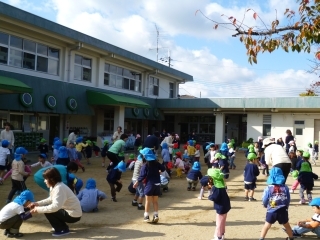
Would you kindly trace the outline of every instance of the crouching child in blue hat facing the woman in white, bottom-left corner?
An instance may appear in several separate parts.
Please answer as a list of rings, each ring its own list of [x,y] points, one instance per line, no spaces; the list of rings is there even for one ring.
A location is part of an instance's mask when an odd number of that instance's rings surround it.
[[[30,190],[23,191],[11,203],[4,206],[0,211],[0,229],[5,229],[4,235],[8,238],[20,238],[19,232],[23,221],[32,217],[26,209],[34,202],[33,193]]]

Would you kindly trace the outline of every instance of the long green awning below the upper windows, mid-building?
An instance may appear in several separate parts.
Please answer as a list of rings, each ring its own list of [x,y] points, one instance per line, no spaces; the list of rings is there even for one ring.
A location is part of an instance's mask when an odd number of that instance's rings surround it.
[[[122,105],[126,107],[150,108],[150,105],[132,97],[87,90],[87,101],[91,105]]]

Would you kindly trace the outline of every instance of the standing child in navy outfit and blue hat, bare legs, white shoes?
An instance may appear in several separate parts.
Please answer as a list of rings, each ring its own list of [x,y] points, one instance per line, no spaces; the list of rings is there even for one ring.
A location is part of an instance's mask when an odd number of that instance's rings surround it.
[[[146,181],[146,186],[144,188],[144,194],[146,195],[146,205],[144,210],[144,218],[143,221],[150,222],[149,218],[149,209],[150,203],[153,203],[153,218],[152,222],[157,223],[159,221],[159,204],[158,197],[161,194],[160,191],[160,174],[159,172],[165,171],[165,168],[162,164],[160,164],[156,160],[156,156],[154,155],[151,149],[143,149],[143,157],[147,161],[145,165],[142,166],[140,171],[140,176],[138,181],[133,185],[137,187],[139,183],[142,181]]]

